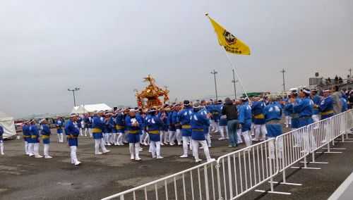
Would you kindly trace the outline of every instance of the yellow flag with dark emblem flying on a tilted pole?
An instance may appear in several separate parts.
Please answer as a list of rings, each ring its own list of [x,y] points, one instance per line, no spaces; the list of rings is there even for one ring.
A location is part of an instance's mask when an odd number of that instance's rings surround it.
[[[206,16],[208,16],[208,13],[206,13]],[[248,45],[232,35],[232,33],[225,30],[225,28],[213,20],[213,18],[210,18],[210,16],[208,16],[208,18],[210,19],[213,28],[215,28],[218,43],[225,48],[225,51],[232,54],[250,55],[250,48]]]

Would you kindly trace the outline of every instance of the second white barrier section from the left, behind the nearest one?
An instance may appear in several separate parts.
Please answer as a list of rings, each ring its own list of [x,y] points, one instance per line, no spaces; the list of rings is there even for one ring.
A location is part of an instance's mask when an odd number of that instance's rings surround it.
[[[277,174],[275,138],[217,159],[218,199],[235,199]],[[273,188],[272,188],[273,189]]]

